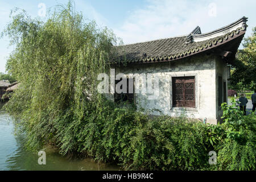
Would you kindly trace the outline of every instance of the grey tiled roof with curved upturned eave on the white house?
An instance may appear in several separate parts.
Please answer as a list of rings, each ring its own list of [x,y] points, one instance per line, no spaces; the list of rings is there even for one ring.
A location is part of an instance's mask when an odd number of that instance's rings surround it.
[[[117,60],[127,63],[153,63],[181,59],[220,46],[245,34],[246,21],[247,18],[243,17],[229,26],[207,34],[201,34],[200,27],[196,27],[188,36],[118,46],[114,63],[118,63]]]

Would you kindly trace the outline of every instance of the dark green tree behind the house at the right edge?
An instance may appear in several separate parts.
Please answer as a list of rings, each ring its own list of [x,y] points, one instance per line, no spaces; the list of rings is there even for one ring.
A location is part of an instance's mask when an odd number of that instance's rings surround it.
[[[256,27],[253,28],[253,35],[243,41],[244,48],[237,52],[230,84],[233,88],[242,85],[253,90],[256,87]]]

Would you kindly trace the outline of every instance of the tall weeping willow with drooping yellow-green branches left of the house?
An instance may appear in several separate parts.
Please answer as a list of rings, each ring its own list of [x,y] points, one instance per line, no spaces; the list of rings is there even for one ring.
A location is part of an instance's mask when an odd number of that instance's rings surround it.
[[[15,50],[6,68],[20,86],[6,110],[27,134],[29,147],[51,142],[70,152],[79,138],[71,133],[79,134],[86,114],[101,107],[97,76],[109,69],[117,39],[108,28],[83,19],[70,2],[44,22],[24,10],[10,16],[3,35]]]

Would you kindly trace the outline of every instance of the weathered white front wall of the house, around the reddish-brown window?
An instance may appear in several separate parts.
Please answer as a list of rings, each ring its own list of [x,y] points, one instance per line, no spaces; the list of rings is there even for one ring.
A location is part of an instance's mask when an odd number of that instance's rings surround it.
[[[118,73],[138,74],[152,73],[159,77],[159,97],[148,100],[150,94],[135,94],[136,104],[153,115],[167,114],[173,117],[184,114],[189,118],[208,118],[207,121],[216,123],[216,64],[214,55],[195,55],[185,59],[166,63],[136,64],[128,67],[116,67]],[[195,76],[196,108],[172,107],[172,77]],[[135,85],[138,88],[143,83]],[[154,85],[154,84],[153,84]]]

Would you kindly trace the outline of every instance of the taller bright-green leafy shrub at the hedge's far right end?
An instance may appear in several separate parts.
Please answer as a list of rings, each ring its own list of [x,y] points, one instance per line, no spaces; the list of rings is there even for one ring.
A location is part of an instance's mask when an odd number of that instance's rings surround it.
[[[225,129],[224,142],[219,143],[218,170],[255,170],[256,115],[243,116],[238,103],[232,99],[232,106],[222,104]]]

